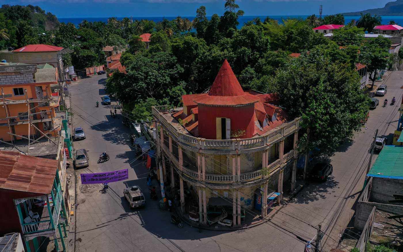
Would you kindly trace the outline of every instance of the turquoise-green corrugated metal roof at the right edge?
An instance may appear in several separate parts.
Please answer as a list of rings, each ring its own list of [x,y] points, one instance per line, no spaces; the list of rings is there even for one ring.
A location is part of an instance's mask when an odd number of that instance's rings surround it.
[[[403,146],[383,146],[367,176],[403,179]]]

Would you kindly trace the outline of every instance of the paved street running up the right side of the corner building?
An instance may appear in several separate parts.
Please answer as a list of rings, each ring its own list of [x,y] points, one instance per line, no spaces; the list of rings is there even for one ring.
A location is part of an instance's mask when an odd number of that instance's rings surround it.
[[[388,86],[385,97],[376,97],[379,106],[370,110],[370,117],[361,132],[354,135],[352,141],[347,141],[340,146],[332,156],[333,174],[326,183],[312,183],[305,187],[289,205],[285,206],[274,220],[283,225],[292,227],[301,235],[316,233],[316,230],[308,224],[316,226],[322,223],[322,230],[326,235],[322,241],[324,251],[335,248],[343,227],[347,227],[354,214],[355,205],[360,191],[364,185],[364,177],[369,162],[369,149],[373,141],[374,132],[379,129],[378,135],[388,137],[388,144],[392,143],[392,136],[397,128],[400,101],[403,94],[403,71],[395,71],[384,81]],[[390,106],[390,102],[396,97],[396,104]],[[382,107],[383,100],[387,98],[389,104]],[[378,155],[375,154],[372,162]],[[303,223],[293,217],[305,221]],[[349,224],[352,227],[353,223]],[[337,241],[337,242],[336,242]],[[341,247],[343,248],[343,247]]]

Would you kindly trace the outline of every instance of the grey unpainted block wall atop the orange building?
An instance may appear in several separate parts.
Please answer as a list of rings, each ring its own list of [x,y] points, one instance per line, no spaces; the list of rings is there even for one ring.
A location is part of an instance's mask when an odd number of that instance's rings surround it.
[[[36,64],[0,66],[0,85],[33,83]]]

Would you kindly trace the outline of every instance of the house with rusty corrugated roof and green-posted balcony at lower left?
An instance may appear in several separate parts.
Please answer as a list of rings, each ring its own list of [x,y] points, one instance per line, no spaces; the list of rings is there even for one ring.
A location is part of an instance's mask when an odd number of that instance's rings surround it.
[[[38,251],[42,239],[63,236],[60,215],[66,216],[58,160],[0,151],[0,235],[19,232],[25,249]],[[61,213],[62,212],[62,213]],[[64,224],[63,224],[64,225]],[[61,239],[63,250],[64,241]],[[58,248],[58,241],[55,240]]]

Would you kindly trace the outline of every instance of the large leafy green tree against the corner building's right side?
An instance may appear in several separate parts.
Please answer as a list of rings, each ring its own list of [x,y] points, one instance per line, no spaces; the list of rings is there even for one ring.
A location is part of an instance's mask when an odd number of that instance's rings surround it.
[[[302,117],[310,129],[300,137],[301,150],[320,149],[331,154],[345,138],[361,128],[368,111],[368,96],[359,75],[344,64],[333,63],[318,50],[293,59],[276,75],[282,104],[292,117]]]

